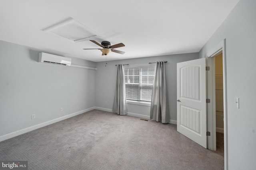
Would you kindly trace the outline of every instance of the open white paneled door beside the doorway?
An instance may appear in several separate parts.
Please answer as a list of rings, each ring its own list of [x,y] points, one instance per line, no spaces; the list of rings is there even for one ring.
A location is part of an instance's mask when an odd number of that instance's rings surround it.
[[[177,63],[177,131],[207,148],[206,59]]]

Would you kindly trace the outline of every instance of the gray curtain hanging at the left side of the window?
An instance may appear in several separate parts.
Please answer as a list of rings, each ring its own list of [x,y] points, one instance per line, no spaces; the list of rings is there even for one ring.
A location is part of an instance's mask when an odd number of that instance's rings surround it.
[[[118,115],[126,115],[126,94],[125,94],[125,79],[124,79],[124,66],[118,64],[116,77],[116,91],[114,97],[114,104],[112,111]]]

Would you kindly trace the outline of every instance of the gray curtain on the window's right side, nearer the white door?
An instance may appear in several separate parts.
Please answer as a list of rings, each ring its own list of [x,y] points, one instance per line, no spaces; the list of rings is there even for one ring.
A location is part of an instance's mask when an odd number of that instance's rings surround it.
[[[170,121],[164,61],[156,62],[150,119],[162,123],[169,123]]]

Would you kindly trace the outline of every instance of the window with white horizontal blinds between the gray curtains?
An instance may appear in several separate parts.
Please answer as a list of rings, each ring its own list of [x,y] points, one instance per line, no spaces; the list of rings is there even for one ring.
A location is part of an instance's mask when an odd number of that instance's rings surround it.
[[[155,65],[124,68],[126,100],[151,102]]]

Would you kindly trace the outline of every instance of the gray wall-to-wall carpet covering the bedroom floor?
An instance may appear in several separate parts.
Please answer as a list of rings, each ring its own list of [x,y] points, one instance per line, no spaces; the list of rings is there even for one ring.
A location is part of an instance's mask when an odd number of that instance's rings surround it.
[[[176,131],[176,125],[100,110],[0,142],[0,160],[30,170],[222,170],[224,157]]]

